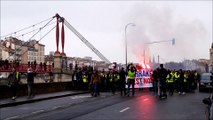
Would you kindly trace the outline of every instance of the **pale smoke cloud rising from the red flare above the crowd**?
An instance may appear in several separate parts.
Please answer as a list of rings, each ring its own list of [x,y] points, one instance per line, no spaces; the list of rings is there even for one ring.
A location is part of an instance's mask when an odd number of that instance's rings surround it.
[[[144,48],[146,61],[153,55],[157,58],[157,54],[165,61],[180,61],[202,55],[200,48],[203,42],[207,41],[207,34],[204,25],[198,19],[190,20],[176,14],[172,8],[148,4],[136,5],[124,19],[134,20],[136,24],[134,30],[133,28],[129,30],[128,27],[128,48],[131,48],[140,62],[144,57]],[[174,46],[172,42],[144,46],[145,43],[172,40],[172,38],[176,39]]]

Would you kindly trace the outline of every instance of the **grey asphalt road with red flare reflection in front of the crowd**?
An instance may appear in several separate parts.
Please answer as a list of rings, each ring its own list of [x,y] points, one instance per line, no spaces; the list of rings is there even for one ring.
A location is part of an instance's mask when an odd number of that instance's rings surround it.
[[[159,99],[152,92],[137,91],[127,97],[102,93],[45,100],[1,109],[1,119],[28,120],[204,120],[204,97],[188,93]]]

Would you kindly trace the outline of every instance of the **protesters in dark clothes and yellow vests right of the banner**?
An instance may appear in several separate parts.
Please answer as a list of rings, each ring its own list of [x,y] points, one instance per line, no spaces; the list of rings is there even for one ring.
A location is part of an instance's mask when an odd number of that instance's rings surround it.
[[[167,92],[169,95],[174,92],[193,92],[197,88],[200,75],[197,71],[166,70],[161,64],[160,68],[153,71],[152,78],[155,94],[167,98]]]

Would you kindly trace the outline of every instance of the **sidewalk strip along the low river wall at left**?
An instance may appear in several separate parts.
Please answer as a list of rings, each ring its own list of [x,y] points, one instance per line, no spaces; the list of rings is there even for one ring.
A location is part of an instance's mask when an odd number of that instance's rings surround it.
[[[55,92],[55,93],[38,94],[38,95],[35,95],[33,98],[28,98],[27,96],[17,97],[15,100],[12,100],[11,98],[7,98],[7,99],[0,100],[0,108],[11,107],[11,106],[21,105],[26,103],[33,103],[33,102],[48,100],[53,98],[83,94],[83,93],[88,93],[88,92],[87,91],[62,91],[62,92]]]

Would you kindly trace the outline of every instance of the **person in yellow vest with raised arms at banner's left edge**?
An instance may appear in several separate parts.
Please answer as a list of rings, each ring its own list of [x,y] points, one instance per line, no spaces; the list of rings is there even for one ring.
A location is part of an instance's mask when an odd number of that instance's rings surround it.
[[[135,95],[135,75],[136,75],[136,69],[134,66],[130,68],[130,71],[128,71],[128,88],[127,88],[127,96],[130,95],[130,86],[132,86],[132,96]]]

